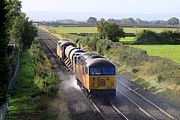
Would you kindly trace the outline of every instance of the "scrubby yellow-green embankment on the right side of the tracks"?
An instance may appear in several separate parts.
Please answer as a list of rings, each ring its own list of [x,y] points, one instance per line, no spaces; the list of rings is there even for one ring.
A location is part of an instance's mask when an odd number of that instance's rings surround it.
[[[50,28],[49,31],[52,32],[52,28]],[[71,34],[62,34],[55,30],[53,33],[54,35],[60,35],[60,38],[81,42],[82,49],[97,51],[115,63],[118,66],[119,72],[134,79],[135,82],[144,87],[144,89],[159,94],[162,98],[180,107],[180,64],[170,59],[149,56],[144,50],[123,46],[120,43],[113,43],[109,40],[80,38],[79,36],[73,36]],[[168,49],[172,49],[173,47],[170,45],[167,46]],[[152,46],[150,46],[149,49],[151,47]],[[177,54],[179,46],[174,48],[176,49],[174,56],[175,59],[178,60]],[[154,52],[155,55],[160,53],[160,51],[157,51]],[[161,52],[162,51],[163,50],[161,50]],[[168,54],[170,55],[172,53],[169,52]]]

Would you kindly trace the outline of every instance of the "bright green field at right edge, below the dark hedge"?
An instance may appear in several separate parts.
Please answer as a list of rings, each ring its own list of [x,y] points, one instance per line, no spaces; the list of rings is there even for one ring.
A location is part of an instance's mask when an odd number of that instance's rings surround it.
[[[148,55],[170,58],[180,63],[180,45],[131,45],[146,50]]]

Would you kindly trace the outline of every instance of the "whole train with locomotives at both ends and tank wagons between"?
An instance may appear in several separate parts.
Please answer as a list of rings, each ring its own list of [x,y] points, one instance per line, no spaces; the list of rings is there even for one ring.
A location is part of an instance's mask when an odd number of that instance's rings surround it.
[[[116,70],[110,61],[70,41],[58,41],[56,52],[89,95],[115,96]]]

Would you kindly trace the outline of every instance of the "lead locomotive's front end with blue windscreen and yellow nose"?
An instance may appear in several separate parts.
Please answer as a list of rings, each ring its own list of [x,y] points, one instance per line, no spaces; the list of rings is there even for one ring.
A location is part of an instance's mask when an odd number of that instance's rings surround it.
[[[90,93],[115,96],[115,65],[104,58],[97,58],[87,64],[89,66]]]

